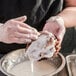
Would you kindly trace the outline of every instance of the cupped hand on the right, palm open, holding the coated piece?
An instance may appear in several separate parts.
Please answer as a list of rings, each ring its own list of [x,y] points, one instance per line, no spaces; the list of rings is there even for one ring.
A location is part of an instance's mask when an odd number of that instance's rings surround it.
[[[43,31],[45,30],[53,33],[56,36],[56,51],[58,52],[61,48],[61,43],[65,34],[65,26],[63,19],[61,17],[56,16],[50,18],[44,25]]]

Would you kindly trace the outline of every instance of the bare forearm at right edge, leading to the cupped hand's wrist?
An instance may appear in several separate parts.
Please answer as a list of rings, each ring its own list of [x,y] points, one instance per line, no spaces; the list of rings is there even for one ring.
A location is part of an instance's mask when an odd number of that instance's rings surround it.
[[[65,27],[76,26],[76,7],[67,7],[58,15],[63,18]]]

